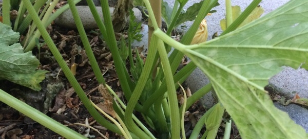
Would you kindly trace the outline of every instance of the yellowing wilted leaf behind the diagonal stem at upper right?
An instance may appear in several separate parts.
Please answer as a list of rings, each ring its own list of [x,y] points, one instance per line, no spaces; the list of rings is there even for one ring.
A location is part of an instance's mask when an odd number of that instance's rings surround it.
[[[232,6],[232,17],[233,21],[238,18],[241,14],[241,7],[239,6]],[[248,15],[248,17],[242,22],[242,24],[238,27],[242,27],[249,22],[252,22],[253,20],[258,19],[261,14],[264,13],[264,9],[261,6],[256,7],[251,14]],[[224,31],[226,29],[226,19],[220,20],[220,27]]]

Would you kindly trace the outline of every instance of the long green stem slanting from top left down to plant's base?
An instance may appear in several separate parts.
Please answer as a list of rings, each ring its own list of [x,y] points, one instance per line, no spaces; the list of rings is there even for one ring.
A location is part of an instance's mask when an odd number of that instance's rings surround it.
[[[26,8],[28,9],[30,16],[32,17],[32,19],[34,21],[34,24],[36,24],[37,29],[40,30],[43,38],[45,39],[46,43],[48,44],[48,47],[49,47],[51,53],[55,57],[57,63],[62,68],[65,76],[67,77],[67,79],[71,83],[71,85],[73,86],[74,90],[78,94],[79,98],[81,99],[81,101],[83,102],[84,106],[87,108],[89,113],[93,116],[93,118],[95,120],[97,120],[98,123],[100,123],[101,125],[103,125],[107,129],[109,129],[109,130],[111,130],[115,133],[122,134],[117,126],[115,126],[114,124],[111,124],[109,121],[104,119],[100,115],[100,113],[91,105],[91,102],[89,101],[89,99],[85,95],[85,92],[83,91],[83,89],[79,85],[78,81],[75,79],[75,77],[71,73],[69,67],[66,65],[66,62],[64,61],[63,57],[61,56],[59,50],[57,50],[57,48],[56,48],[55,44],[53,43],[52,39],[50,38],[48,32],[46,31],[46,29],[42,25],[42,22],[41,22],[40,18],[38,18],[34,8],[31,5],[31,3],[28,0],[23,0],[23,2],[25,4]]]

